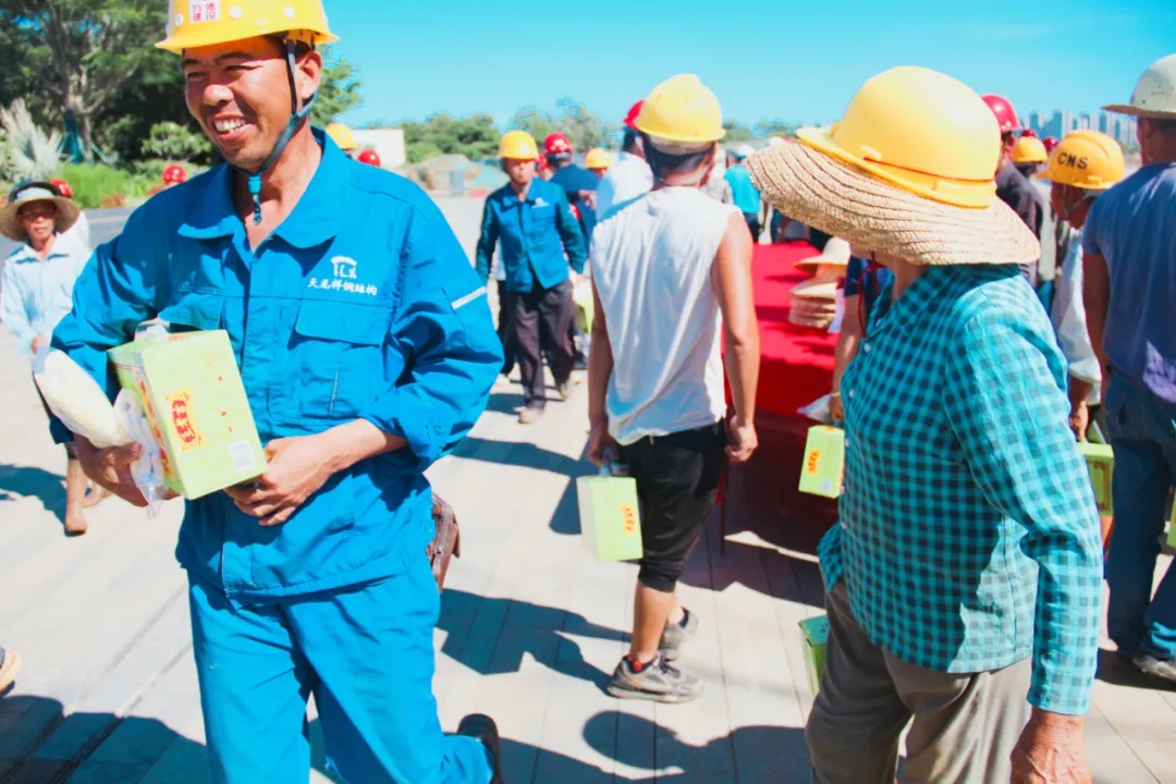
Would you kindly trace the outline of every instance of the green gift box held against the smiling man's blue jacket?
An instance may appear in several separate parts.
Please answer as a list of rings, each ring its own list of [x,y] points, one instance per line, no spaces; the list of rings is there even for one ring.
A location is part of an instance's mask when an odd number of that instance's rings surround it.
[[[199,498],[253,480],[266,456],[228,333],[139,340],[108,351],[119,384],[147,415],[167,487]]]

